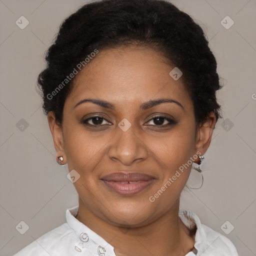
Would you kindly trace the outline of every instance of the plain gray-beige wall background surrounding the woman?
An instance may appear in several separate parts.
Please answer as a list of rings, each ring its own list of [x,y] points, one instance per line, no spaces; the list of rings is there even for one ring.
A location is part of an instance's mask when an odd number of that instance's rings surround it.
[[[85,2],[0,0],[2,256],[14,254],[61,225],[65,209],[78,203],[73,184],[66,177],[67,167],[55,161],[36,77],[44,67],[43,54],[60,22]],[[202,164],[203,186],[186,188],[180,207],[194,211],[202,223],[231,239],[239,255],[256,255],[256,1],[172,2],[202,25],[224,85],[218,93],[223,119],[216,124]],[[24,29],[15,24],[21,15],[29,21]],[[234,21],[229,29],[220,23],[226,15]],[[230,20],[224,22],[230,24]],[[188,185],[198,187],[200,181],[200,174],[192,170]],[[15,228],[21,220],[29,226],[24,234]],[[223,230],[234,226],[229,234],[221,229],[226,220],[230,223],[224,224]]]

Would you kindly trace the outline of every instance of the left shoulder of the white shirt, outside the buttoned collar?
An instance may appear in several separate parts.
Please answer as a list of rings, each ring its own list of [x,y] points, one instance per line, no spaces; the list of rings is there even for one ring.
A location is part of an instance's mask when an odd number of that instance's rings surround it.
[[[54,255],[65,255],[75,240],[74,230],[65,222],[32,241],[13,256],[49,256],[52,252]]]

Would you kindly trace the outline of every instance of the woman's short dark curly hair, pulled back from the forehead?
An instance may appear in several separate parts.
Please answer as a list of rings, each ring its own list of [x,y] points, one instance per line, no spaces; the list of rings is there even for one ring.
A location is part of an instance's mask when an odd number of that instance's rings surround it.
[[[167,0],[100,0],[68,16],[48,48],[46,68],[37,78],[44,113],[53,111],[61,124],[73,81],[69,77],[67,81],[67,75],[95,49],[125,45],[152,47],[182,71],[197,124],[202,124],[210,112],[218,119],[216,90],[221,85],[216,59],[202,28]],[[63,80],[65,86],[53,97],[52,91]]]

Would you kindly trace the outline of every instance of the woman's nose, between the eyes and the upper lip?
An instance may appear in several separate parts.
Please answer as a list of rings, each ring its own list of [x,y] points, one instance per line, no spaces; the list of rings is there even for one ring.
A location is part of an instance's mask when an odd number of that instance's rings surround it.
[[[119,161],[123,165],[130,165],[135,161],[142,161],[148,156],[145,142],[135,125],[131,125],[126,131],[116,127],[115,136],[109,141],[108,157]]]

